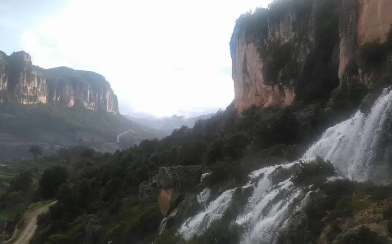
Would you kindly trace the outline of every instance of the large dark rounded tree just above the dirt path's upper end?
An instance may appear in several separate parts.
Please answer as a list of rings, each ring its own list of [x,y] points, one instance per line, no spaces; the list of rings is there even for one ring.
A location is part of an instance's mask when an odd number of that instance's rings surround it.
[[[50,199],[54,197],[57,189],[67,181],[68,171],[62,166],[53,166],[45,169],[39,182],[39,192],[41,197]]]

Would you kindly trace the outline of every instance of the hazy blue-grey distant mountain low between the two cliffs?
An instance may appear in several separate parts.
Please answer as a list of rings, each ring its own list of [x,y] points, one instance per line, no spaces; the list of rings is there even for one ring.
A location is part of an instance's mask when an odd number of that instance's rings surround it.
[[[156,130],[160,130],[165,135],[170,135],[173,132],[173,130],[176,128],[180,128],[181,126],[187,126],[189,128],[192,128],[194,126],[194,123],[198,119],[207,119],[210,118],[212,115],[214,115],[214,113],[200,115],[197,117],[189,117],[189,118],[185,116],[177,116],[177,115],[173,115],[171,117],[163,117],[163,118],[157,118],[152,116],[145,117],[145,118],[137,118],[129,115],[125,115],[125,116],[135,121],[138,124]]]

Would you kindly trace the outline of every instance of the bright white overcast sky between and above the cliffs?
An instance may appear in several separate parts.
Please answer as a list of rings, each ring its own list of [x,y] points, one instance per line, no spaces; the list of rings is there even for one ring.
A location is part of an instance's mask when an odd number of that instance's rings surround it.
[[[0,50],[106,77],[120,112],[194,116],[234,99],[229,42],[270,0],[0,0]]]

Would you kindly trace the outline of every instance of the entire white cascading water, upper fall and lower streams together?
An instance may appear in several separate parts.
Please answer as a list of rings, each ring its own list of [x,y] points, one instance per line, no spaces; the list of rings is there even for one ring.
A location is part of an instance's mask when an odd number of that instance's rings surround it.
[[[312,160],[319,156],[329,160],[335,169],[350,179],[382,181],[388,172],[384,161],[391,158],[391,128],[392,91],[384,89],[369,114],[358,111],[352,118],[327,129],[302,158]],[[290,214],[306,204],[309,189],[295,187],[291,178],[275,185],[272,182],[276,170],[288,169],[295,164],[299,162],[265,167],[249,175],[251,181],[243,188],[254,187],[254,192],[235,221],[247,226],[241,243],[274,243],[277,230],[287,225]],[[255,182],[255,179],[258,180]],[[234,191],[223,192],[204,211],[187,219],[178,234],[185,239],[201,234],[222,217],[231,204]]]

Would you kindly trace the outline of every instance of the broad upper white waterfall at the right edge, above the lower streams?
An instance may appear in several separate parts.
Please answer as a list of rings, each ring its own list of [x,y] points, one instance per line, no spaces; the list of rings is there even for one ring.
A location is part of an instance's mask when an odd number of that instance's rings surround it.
[[[380,153],[385,149],[383,140],[391,139],[391,106],[392,91],[384,89],[368,115],[357,111],[352,118],[327,129],[304,157],[329,160],[341,174],[353,180],[385,179],[387,164],[382,161],[387,159]]]

